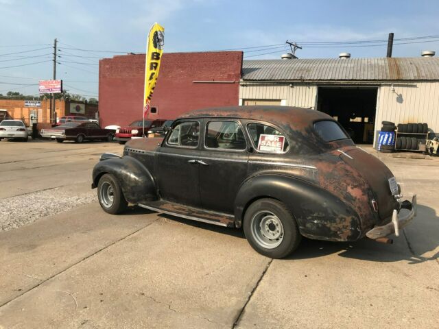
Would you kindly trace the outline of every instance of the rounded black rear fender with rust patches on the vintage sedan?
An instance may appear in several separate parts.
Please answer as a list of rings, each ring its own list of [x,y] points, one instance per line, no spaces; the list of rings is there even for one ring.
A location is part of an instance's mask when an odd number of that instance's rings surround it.
[[[357,212],[328,191],[297,178],[267,174],[244,182],[235,200],[236,226],[246,208],[262,197],[283,202],[297,221],[300,234],[310,239],[355,241],[361,236]]]

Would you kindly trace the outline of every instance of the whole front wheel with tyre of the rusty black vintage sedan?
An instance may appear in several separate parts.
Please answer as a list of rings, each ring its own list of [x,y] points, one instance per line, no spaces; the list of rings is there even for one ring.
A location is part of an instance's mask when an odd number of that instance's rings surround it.
[[[106,173],[99,180],[97,184],[97,199],[99,199],[102,209],[112,215],[120,214],[128,206],[119,182],[110,173]]]

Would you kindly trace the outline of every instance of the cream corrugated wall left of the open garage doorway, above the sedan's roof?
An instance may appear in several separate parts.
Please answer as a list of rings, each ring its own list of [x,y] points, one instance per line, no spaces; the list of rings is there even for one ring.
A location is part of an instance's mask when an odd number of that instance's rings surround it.
[[[240,86],[240,99],[285,99],[286,106],[315,108],[316,86],[294,84],[294,86],[257,85]]]

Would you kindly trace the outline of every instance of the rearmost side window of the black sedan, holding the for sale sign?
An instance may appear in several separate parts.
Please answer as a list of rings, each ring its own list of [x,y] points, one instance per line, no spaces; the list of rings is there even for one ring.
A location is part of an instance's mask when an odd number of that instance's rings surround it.
[[[262,123],[249,123],[248,132],[254,147],[261,152],[282,153],[288,148],[287,138],[276,128]]]

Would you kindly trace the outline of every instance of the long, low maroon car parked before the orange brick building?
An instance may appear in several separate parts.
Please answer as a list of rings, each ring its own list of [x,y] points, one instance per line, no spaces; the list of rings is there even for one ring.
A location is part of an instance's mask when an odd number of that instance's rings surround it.
[[[42,129],[40,135],[43,138],[55,138],[58,143],[66,140],[75,141],[76,143],[82,143],[85,140],[104,140],[110,142],[114,137],[112,130],[102,129],[94,122],[67,122],[57,127]]]

